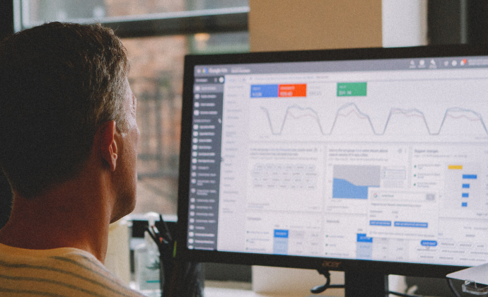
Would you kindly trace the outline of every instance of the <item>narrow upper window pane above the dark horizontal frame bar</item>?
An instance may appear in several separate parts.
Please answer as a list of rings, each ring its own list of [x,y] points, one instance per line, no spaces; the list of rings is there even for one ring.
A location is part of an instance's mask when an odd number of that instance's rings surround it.
[[[23,26],[45,21],[102,20],[212,8],[248,6],[248,0],[21,0]]]

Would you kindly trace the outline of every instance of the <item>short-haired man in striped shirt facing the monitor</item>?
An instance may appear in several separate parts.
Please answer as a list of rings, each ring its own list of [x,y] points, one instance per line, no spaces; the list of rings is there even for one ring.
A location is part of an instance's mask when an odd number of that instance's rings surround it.
[[[136,98],[101,25],[47,23],[0,42],[1,296],[141,296],[103,262],[135,206]]]

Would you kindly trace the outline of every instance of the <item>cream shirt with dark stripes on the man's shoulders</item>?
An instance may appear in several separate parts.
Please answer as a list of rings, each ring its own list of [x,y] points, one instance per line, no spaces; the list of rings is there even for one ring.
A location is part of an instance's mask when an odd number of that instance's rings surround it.
[[[0,296],[143,296],[76,248],[26,250],[0,243]]]

